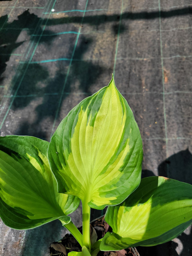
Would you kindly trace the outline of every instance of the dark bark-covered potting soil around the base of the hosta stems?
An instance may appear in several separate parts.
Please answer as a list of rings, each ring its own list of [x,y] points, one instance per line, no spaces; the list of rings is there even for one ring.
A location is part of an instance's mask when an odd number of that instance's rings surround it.
[[[81,229],[80,229],[81,231]],[[104,237],[105,233],[112,232],[112,228],[104,220],[104,216],[90,224],[91,243]],[[50,255],[67,256],[70,251],[81,251],[81,246],[71,234],[66,234],[61,240],[50,244]],[[140,256],[135,247],[121,251],[100,251],[98,256]]]

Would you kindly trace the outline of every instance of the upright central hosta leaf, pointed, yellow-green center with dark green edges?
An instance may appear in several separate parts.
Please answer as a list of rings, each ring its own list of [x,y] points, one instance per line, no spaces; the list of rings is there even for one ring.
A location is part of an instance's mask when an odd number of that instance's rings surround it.
[[[142,140],[114,79],[61,121],[48,149],[58,191],[95,209],[121,203],[140,183]]]

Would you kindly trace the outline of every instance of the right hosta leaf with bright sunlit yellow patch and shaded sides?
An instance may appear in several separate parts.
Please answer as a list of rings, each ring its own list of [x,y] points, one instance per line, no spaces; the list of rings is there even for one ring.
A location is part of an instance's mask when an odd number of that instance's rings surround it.
[[[192,223],[192,185],[165,177],[144,178],[123,203],[108,207],[105,220],[113,233],[104,236],[103,251],[168,242]]]

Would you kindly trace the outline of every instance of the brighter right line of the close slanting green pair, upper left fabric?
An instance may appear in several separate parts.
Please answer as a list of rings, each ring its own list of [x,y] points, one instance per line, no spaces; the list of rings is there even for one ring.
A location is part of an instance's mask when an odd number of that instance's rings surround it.
[[[57,0],[54,1],[52,8],[54,8],[56,1],[57,1]],[[51,3],[52,3],[52,0],[50,1],[49,7],[50,7]],[[49,15],[49,17],[50,17],[50,15]],[[42,29],[42,34],[43,34],[43,32],[44,32],[44,30],[45,30],[45,28],[46,28],[46,24],[47,24],[47,22],[48,22],[48,20],[49,20],[49,17],[48,17],[48,19],[46,20],[46,23],[45,23],[45,25],[44,25],[44,27],[43,27],[43,29]],[[27,69],[28,69],[28,67],[29,67],[29,64],[30,64],[30,62],[31,62],[31,60],[32,60],[32,58],[33,58],[33,56],[34,56],[34,53],[35,53],[37,47],[38,47],[38,44],[39,44],[40,39],[41,39],[41,37],[39,37],[39,39],[38,39],[38,41],[37,41],[37,43],[36,43],[36,45],[35,45],[35,48],[34,48],[34,50],[33,50],[33,52],[32,52],[32,55],[31,55],[31,57],[30,57],[30,59],[29,59],[29,62],[28,62],[28,64],[27,64],[27,66],[26,66],[26,69],[25,69],[25,71],[23,72],[22,78],[21,78],[21,80],[20,80],[20,82],[19,82],[19,84],[18,84],[18,86],[17,86],[17,89],[16,89],[16,91],[15,91],[15,94],[14,94],[14,96],[13,96],[13,99],[12,99],[12,101],[11,101],[9,107],[7,108],[7,112],[5,113],[5,116],[4,116],[4,118],[3,118],[2,122],[1,122],[0,129],[2,128],[2,125],[3,125],[4,121],[5,121],[5,118],[7,117],[7,114],[9,113],[9,110],[10,110],[12,104],[13,104],[14,98],[15,98],[15,96],[16,96],[18,90],[19,90],[19,87],[20,87],[20,85],[21,85],[21,83],[22,83],[22,80],[23,80],[25,74],[26,74],[26,71],[27,71]],[[29,52],[29,51],[28,51],[28,52]]]

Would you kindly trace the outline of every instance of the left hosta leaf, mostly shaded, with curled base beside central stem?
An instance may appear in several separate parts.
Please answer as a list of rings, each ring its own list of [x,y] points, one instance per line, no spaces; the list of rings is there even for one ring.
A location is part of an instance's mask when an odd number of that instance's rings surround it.
[[[0,217],[15,229],[37,227],[65,216],[79,198],[59,194],[47,159],[49,143],[29,136],[0,137]]]

